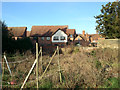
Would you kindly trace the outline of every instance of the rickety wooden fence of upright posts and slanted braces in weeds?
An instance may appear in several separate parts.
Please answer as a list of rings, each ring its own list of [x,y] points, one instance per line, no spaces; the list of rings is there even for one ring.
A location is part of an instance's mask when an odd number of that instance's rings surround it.
[[[36,59],[34,60],[34,63],[32,64],[32,67],[30,68],[30,70],[29,70],[29,72],[28,72],[28,74],[27,74],[27,76],[26,76],[26,78],[24,79],[24,82],[23,83],[19,83],[19,84],[17,84],[17,85],[14,85],[15,83],[14,82],[10,82],[9,84],[10,85],[3,85],[3,83],[4,82],[6,82],[6,81],[2,81],[2,86],[11,86],[11,87],[14,87],[14,86],[19,86],[20,88],[21,88],[21,90],[24,88],[24,86],[25,86],[25,84],[26,84],[26,82],[27,82],[27,80],[28,80],[28,78],[30,77],[30,75],[31,75],[31,72],[34,70],[34,67],[36,66],[36,81],[35,80],[32,80],[32,81],[30,81],[30,82],[36,82],[36,86],[37,86],[37,89],[39,88],[39,81],[44,77],[46,77],[45,76],[45,73],[47,72],[47,70],[48,70],[48,67],[50,66],[50,64],[51,64],[51,62],[52,62],[52,60],[53,60],[53,58],[55,57],[55,55],[57,54],[57,60],[58,60],[58,63],[57,63],[57,65],[58,65],[58,69],[59,69],[59,77],[60,77],[60,83],[62,83],[62,76],[61,76],[61,67],[60,67],[60,64],[59,64],[59,47],[57,46],[57,49],[55,50],[55,52],[54,52],[54,54],[52,55],[52,57],[50,58],[50,60],[49,60],[49,63],[48,63],[48,65],[46,66],[46,68],[45,68],[45,70],[43,70],[43,67],[42,67],[42,64],[43,64],[43,61],[42,61],[42,47],[40,47],[40,51],[38,52],[38,43],[36,43]],[[39,66],[39,64],[38,64],[38,60],[40,59],[40,65],[41,66]],[[5,60],[5,62],[4,62],[4,60]],[[4,53],[4,59],[2,60],[2,78],[4,77],[4,76],[6,76],[6,75],[4,75],[4,71],[5,71],[5,69],[7,69],[8,68],[8,70],[9,70],[9,73],[10,74],[8,74],[8,76],[10,75],[10,78],[12,78],[14,75],[12,74],[12,72],[11,72],[11,70],[12,69],[10,69],[10,67],[9,67],[9,64],[17,64],[17,63],[24,63],[25,61],[29,61],[29,58],[26,58],[26,59],[24,59],[24,60],[21,60],[21,61],[16,61],[16,62],[8,62],[8,60],[7,60],[7,57],[6,57],[6,55],[5,55],[5,53]],[[6,63],[6,65],[7,65],[7,68],[5,68],[5,63]],[[22,67],[22,66],[21,66]],[[41,72],[40,72],[40,74],[39,74],[39,68],[40,68],[40,70],[41,70]],[[27,70],[26,70],[27,71]],[[25,72],[26,72],[25,71]],[[29,83],[30,83],[29,82]],[[8,83],[8,82],[7,82]]]

